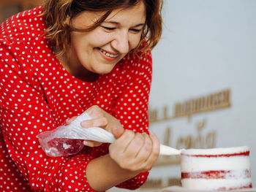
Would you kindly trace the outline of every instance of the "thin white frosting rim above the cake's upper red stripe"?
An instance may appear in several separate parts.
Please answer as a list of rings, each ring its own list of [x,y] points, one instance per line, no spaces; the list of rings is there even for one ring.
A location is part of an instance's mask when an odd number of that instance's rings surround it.
[[[227,148],[211,148],[211,149],[189,149],[181,150],[181,155],[225,155],[233,153],[243,153],[249,150],[249,147],[227,147]]]

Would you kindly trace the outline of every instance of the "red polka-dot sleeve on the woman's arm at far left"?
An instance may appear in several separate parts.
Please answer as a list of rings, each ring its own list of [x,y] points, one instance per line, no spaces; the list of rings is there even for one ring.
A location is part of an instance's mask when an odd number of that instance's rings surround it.
[[[0,38],[0,126],[10,157],[35,191],[94,191],[86,180],[89,154],[50,158],[42,151],[37,134],[56,123],[21,47]]]

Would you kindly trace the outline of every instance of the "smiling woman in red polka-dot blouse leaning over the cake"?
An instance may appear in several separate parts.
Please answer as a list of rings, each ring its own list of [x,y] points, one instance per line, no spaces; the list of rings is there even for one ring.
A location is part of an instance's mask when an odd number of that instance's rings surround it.
[[[148,134],[160,0],[48,0],[1,25],[1,191],[139,188],[159,154]],[[86,111],[111,145],[50,158],[37,135]],[[21,174],[20,174],[21,173]]]

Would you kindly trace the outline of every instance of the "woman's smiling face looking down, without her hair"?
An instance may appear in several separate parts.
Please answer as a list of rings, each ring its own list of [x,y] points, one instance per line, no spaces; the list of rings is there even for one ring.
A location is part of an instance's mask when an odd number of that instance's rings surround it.
[[[102,15],[102,12],[81,12],[72,18],[71,26],[89,27]],[[109,73],[121,58],[138,46],[145,20],[146,9],[140,2],[135,7],[114,10],[92,31],[72,31],[69,65],[97,74]]]

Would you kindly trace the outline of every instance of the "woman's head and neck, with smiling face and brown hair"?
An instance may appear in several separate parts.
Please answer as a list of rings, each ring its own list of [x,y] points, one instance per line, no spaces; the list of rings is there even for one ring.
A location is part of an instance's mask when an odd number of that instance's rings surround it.
[[[160,1],[48,1],[48,38],[69,73],[82,79],[89,73],[87,80],[94,81],[131,50],[137,52],[142,42],[147,41],[144,51],[157,44],[162,31],[161,6]],[[97,52],[102,53],[103,61]]]

